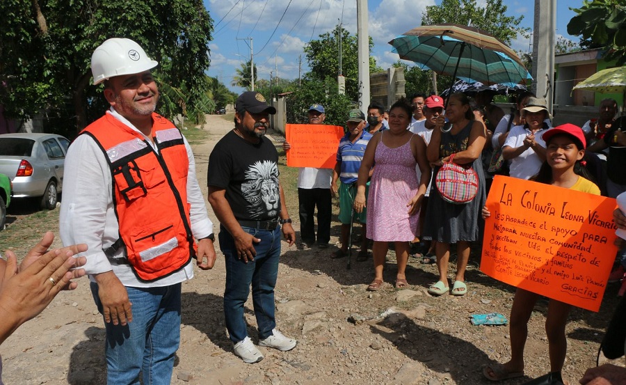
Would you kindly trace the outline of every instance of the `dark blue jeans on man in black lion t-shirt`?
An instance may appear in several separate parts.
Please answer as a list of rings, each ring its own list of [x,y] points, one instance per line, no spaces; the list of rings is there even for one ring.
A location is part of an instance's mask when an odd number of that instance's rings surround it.
[[[248,336],[246,320],[243,318],[243,304],[250,294],[252,285],[252,305],[255,308],[259,338],[271,336],[276,327],[274,318],[274,288],[278,277],[280,258],[280,226],[275,230],[259,230],[242,227],[243,231],[261,239],[255,244],[257,255],[248,263],[237,257],[232,235],[220,226],[220,250],[226,261],[226,289],[224,290],[224,317],[226,329],[233,343]]]

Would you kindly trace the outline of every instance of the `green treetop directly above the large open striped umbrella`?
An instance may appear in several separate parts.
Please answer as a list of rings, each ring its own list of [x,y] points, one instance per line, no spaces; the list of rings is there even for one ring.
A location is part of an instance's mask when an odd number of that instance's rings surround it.
[[[524,15],[507,16],[502,0],[487,0],[484,7],[476,0],[442,0],[438,6],[427,6],[422,13],[422,25],[454,23],[472,25],[499,38],[506,45],[520,33],[528,37],[530,29],[520,27]]]

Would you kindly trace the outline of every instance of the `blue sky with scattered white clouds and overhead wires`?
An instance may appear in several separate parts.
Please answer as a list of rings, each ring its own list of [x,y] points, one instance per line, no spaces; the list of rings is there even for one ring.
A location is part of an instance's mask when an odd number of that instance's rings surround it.
[[[545,1],[545,0],[542,0]],[[478,0],[479,5],[485,0]],[[298,78],[298,56],[302,56],[302,73],[308,71],[304,47],[310,40],[332,31],[339,22],[351,34],[357,31],[356,0],[204,0],[214,20],[213,40],[209,43],[211,67],[207,74],[218,77],[232,91],[236,68],[250,59],[250,43],[254,52],[257,79],[270,79],[270,72],[282,79]],[[376,64],[390,68],[399,56],[392,53],[390,40],[422,25],[426,6],[441,0],[369,0],[369,36],[374,40],[371,55]],[[506,15],[524,15],[520,26],[533,28],[533,0],[504,0]],[[569,36],[567,24],[576,14],[569,7],[579,8],[582,0],[557,0],[556,36]],[[250,41],[248,38],[252,38]],[[511,43],[515,52],[530,53],[531,38],[517,36]],[[410,63],[410,62],[407,62]]]

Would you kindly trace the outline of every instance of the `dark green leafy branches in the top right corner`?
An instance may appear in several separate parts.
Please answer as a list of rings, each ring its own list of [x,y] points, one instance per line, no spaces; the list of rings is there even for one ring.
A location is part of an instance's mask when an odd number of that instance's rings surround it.
[[[577,15],[568,23],[568,33],[581,36],[584,48],[604,48],[604,58],[626,63],[626,5],[623,0],[583,1],[570,8]]]

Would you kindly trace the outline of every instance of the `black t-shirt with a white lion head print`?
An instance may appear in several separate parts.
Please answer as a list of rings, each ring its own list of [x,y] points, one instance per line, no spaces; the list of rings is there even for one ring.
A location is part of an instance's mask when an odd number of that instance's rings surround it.
[[[234,131],[228,132],[209,155],[207,184],[226,190],[226,200],[236,219],[278,218],[278,152],[266,138],[254,144]]]

